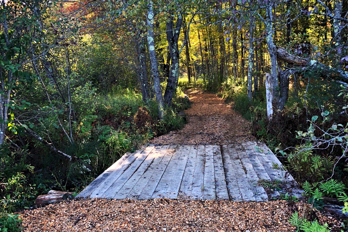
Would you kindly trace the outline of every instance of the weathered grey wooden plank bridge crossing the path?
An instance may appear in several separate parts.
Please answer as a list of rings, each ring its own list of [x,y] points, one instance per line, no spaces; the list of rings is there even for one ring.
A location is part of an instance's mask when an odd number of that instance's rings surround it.
[[[149,144],[127,153],[77,197],[267,201],[260,179],[293,181],[265,144]]]

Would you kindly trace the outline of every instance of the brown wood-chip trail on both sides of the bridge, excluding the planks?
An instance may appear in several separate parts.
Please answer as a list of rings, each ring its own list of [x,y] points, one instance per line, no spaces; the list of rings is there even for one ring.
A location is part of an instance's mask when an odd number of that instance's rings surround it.
[[[255,141],[250,122],[214,94],[193,89],[193,105],[182,130],[154,139],[157,144],[231,144]],[[288,222],[305,203],[228,200],[108,200],[80,198],[22,213],[23,231],[295,231]],[[319,222],[340,231],[339,221],[316,211]]]

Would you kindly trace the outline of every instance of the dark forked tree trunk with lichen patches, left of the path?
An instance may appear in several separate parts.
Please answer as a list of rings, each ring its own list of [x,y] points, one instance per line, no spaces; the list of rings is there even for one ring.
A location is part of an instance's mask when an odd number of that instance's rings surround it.
[[[178,14],[176,27],[173,28],[173,18],[169,17],[167,19],[167,41],[169,46],[169,53],[171,57],[171,67],[169,70],[169,77],[167,81],[166,91],[164,93],[164,101],[168,106],[172,105],[172,99],[174,91],[176,90],[175,83],[179,78],[179,46],[178,40],[180,35],[180,30],[183,22],[182,14]],[[186,43],[187,45],[187,43]]]

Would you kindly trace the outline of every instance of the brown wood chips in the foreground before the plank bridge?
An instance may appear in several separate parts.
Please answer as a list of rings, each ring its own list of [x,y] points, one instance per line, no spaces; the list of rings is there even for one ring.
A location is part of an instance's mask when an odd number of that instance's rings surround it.
[[[27,232],[293,232],[287,221],[291,214],[286,201],[80,199],[27,210],[22,219]],[[319,212],[317,216],[319,222],[340,231],[339,221]]]

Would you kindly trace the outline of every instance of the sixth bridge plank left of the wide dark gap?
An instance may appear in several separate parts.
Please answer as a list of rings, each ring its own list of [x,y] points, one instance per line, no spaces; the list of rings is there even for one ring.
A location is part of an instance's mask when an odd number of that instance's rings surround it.
[[[180,162],[180,156],[183,150],[184,146],[180,146],[179,149],[175,151],[151,198],[162,198],[166,196],[168,185],[171,183],[172,177],[175,175],[175,169]]]

